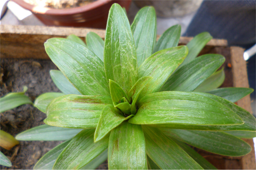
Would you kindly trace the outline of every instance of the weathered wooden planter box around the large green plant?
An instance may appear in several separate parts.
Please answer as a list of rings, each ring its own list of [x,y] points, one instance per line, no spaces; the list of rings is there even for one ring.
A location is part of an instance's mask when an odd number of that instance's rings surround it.
[[[70,27],[45,27],[45,26],[0,26],[1,58],[17,59],[49,59],[43,43],[53,37],[67,37],[75,34],[84,40],[89,32],[95,32],[100,37],[105,37],[104,30]],[[158,37],[159,38],[159,37]],[[192,38],[181,37],[179,44],[187,44]],[[201,54],[218,53],[226,57],[224,63],[226,80],[222,86],[249,87],[246,62],[243,59],[244,50],[240,47],[228,47],[223,39],[212,39],[207,43]],[[201,55],[200,54],[200,55]],[[237,101],[237,105],[252,113],[250,96]],[[252,139],[244,139],[251,145],[252,151],[242,157],[229,157],[212,154],[202,150],[198,152],[209,160],[218,169],[255,169],[255,149]]]

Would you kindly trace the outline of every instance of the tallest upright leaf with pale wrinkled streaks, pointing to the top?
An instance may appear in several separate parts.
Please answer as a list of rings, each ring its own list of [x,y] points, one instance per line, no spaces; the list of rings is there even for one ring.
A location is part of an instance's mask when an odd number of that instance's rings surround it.
[[[131,27],[122,7],[118,4],[113,4],[109,10],[104,66],[107,80],[117,82],[125,93],[128,93],[138,80],[136,48]]]

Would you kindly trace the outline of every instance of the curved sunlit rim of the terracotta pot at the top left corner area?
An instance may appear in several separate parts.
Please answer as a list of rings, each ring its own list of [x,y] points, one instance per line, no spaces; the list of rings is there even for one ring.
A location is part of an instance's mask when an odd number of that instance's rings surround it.
[[[15,2],[16,4],[20,5],[21,7],[25,8],[26,10],[29,10],[33,13],[36,14],[46,14],[46,15],[72,15],[72,14],[77,14],[80,12],[85,12],[85,11],[91,11],[99,6],[103,6],[104,4],[107,4],[113,0],[97,0],[94,1],[90,4],[79,6],[79,7],[72,7],[72,8],[67,8],[67,9],[52,9],[49,7],[41,7],[38,5],[32,5],[24,0],[11,0]]]

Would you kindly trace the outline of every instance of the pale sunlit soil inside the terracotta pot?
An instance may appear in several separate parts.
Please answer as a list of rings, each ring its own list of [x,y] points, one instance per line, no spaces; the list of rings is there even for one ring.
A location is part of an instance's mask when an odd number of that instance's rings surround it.
[[[94,0],[25,0],[32,5],[50,7],[54,9],[73,8],[92,3]]]

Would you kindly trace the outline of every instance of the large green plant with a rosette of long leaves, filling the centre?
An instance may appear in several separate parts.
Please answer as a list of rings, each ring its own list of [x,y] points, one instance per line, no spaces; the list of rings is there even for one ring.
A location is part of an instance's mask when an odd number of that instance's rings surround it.
[[[216,89],[225,58],[197,57],[212,37],[201,33],[176,47],[180,32],[173,26],[156,43],[153,7],[141,9],[130,27],[114,4],[105,42],[93,32],[87,46],[74,35],[49,39],[46,52],[61,70],[50,75],[62,93],[40,95],[34,105],[47,125],[16,139],[67,141],[34,169],[94,169],[107,158],[109,169],[215,169],[187,144],[221,155],[249,153],[238,137],[255,137],[256,121],[233,102],[253,90]]]

